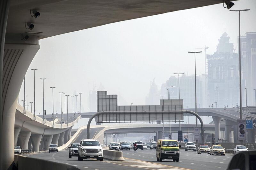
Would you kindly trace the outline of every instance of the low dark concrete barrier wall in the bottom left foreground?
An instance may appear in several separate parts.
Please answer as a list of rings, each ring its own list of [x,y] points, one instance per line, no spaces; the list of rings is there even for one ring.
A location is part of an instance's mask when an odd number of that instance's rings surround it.
[[[36,159],[36,158],[30,158],[25,157],[22,155],[14,155],[14,166],[16,166],[13,169],[18,170],[57,170],[57,169],[67,169],[67,170],[79,170],[75,166],[67,165],[67,164],[61,164],[57,162],[52,162],[48,160],[43,159]]]

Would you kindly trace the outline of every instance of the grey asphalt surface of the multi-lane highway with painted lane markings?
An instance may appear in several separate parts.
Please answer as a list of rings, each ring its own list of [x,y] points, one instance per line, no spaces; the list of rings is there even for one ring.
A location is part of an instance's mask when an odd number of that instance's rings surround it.
[[[152,170],[224,170],[228,166],[228,162],[232,158],[232,154],[226,153],[225,156],[208,154],[197,154],[197,152],[180,151],[180,161],[173,162],[172,160],[156,161],[156,150],[137,150],[134,152],[123,151],[124,161],[84,159],[78,161],[77,157],[68,158],[68,151],[43,152],[27,155],[28,157],[39,158],[69,164],[78,167],[79,169],[152,169]]]

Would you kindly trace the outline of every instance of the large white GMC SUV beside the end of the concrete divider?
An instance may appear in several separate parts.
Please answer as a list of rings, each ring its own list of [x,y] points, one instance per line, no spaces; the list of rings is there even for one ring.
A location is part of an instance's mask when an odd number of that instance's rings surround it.
[[[103,144],[100,144],[98,140],[94,139],[84,139],[78,145],[78,160],[96,158],[98,160],[103,160]]]

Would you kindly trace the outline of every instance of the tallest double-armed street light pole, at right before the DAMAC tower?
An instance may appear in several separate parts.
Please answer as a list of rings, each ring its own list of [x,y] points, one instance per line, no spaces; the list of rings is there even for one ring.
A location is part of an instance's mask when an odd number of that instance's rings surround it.
[[[240,30],[240,12],[249,11],[250,9],[245,10],[229,10],[229,11],[239,11],[239,92],[240,92],[240,120],[242,120],[242,78],[241,78],[241,30]]]

